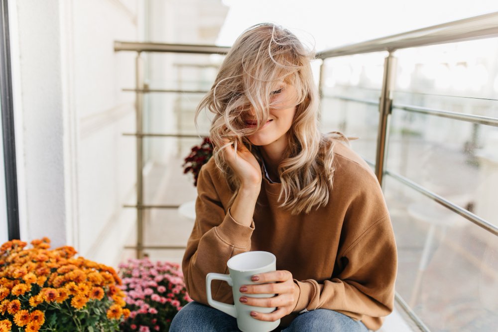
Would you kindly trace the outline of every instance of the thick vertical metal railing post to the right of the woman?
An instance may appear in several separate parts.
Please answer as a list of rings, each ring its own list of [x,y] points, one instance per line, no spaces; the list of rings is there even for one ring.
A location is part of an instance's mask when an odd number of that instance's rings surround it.
[[[375,155],[375,175],[378,183],[383,187],[382,176],[385,169],[387,154],[387,138],[389,133],[389,117],[392,105],[392,88],[394,86],[394,73],[396,68],[396,58],[389,52],[384,60],[384,77],[382,79],[382,92],[378,105],[378,133],[377,133],[377,153]]]

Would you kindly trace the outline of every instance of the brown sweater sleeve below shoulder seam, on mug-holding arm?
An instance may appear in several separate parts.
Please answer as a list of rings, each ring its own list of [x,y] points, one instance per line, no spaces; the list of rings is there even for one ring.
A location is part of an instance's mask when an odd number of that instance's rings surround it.
[[[389,215],[374,221],[336,261],[336,278],[294,280],[301,291],[294,312],[330,309],[379,328],[394,306],[397,251]]]

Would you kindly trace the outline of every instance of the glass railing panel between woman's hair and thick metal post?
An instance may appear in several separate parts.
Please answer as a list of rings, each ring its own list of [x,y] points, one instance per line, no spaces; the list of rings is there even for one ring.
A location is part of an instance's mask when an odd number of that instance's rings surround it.
[[[352,148],[375,161],[378,101],[385,52],[357,54],[324,61],[320,127],[340,131]]]

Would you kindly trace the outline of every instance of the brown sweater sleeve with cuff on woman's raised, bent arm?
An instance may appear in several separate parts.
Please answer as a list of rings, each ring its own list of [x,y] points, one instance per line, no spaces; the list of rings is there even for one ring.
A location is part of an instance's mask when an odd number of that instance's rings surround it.
[[[245,226],[226,211],[210,173],[204,165],[197,180],[196,220],[187,242],[182,268],[189,296],[208,304],[206,275],[210,272],[228,274],[227,261],[234,255],[250,250],[254,222]],[[213,299],[233,303],[232,288],[224,281],[213,281]]]

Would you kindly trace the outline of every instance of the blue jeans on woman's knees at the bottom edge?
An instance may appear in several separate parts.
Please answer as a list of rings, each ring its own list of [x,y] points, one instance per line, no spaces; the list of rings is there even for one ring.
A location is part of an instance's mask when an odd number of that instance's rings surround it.
[[[171,322],[170,332],[234,332],[237,320],[217,309],[191,302]],[[282,332],[367,332],[362,322],[327,309],[317,309],[297,316]]]

